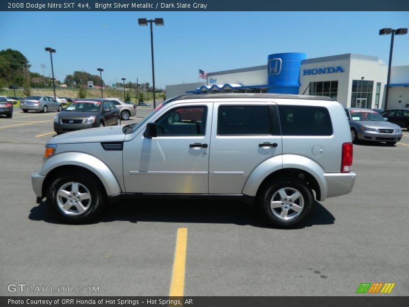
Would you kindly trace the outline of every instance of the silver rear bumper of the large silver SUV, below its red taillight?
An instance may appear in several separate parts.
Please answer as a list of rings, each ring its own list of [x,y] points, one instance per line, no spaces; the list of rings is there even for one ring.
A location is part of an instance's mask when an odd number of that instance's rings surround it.
[[[350,193],[355,184],[356,173],[325,173],[324,178],[329,198]]]

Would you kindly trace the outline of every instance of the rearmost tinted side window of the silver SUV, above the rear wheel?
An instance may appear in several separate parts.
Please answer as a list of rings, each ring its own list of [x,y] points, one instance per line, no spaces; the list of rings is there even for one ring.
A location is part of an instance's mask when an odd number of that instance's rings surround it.
[[[332,123],[323,106],[279,105],[283,136],[330,136]]]

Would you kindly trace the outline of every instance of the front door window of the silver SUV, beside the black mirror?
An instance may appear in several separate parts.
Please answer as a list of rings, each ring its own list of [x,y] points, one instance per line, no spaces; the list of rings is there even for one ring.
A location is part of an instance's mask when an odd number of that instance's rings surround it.
[[[173,108],[156,121],[158,136],[203,136],[206,132],[206,106]]]

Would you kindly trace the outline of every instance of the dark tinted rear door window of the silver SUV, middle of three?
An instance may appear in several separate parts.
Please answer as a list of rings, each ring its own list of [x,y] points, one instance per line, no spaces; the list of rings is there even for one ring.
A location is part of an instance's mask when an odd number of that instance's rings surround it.
[[[217,119],[218,135],[268,135],[268,105],[222,105]]]

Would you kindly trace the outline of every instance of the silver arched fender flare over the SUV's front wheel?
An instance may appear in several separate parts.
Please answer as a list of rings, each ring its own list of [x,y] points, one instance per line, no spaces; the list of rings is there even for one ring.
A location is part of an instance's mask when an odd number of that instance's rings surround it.
[[[40,175],[47,175],[54,168],[75,165],[92,171],[102,182],[108,196],[121,193],[117,178],[108,166],[98,158],[83,152],[62,152],[48,159],[42,166]]]

